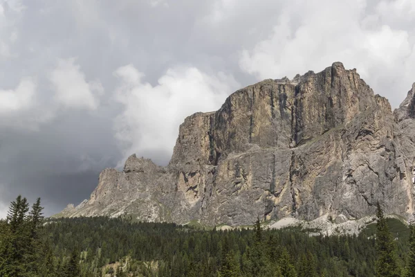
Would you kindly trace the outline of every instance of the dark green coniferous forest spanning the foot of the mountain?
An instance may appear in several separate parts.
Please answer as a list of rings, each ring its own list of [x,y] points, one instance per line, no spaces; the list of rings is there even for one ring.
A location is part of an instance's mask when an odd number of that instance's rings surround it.
[[[0,221],[0,276],[415,276],[415,229],[393,232],[378,205],[359,235],[299,228],[219,231],[131,217],[44,219],[17,197]],[[402,223],[400,223],[402,224]],[[403,224],[402,224],[403,225]]]

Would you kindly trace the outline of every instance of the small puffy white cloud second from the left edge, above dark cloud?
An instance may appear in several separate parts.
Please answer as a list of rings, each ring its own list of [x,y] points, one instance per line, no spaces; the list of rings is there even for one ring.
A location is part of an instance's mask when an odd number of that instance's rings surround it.
[[[55,89],[55,100],[65,107],[97,109],[104,89],[99,81],[86,82],[80,65],[74,58],[59,59],[57,67],[50,73],[50,82]]]

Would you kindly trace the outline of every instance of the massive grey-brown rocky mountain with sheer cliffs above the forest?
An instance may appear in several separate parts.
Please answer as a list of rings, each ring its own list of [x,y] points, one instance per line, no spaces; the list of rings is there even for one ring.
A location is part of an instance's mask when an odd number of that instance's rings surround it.
[[[335,62],[293,80],[264,80],[232,93],[221,109],[180,126],[165,168],[132,155],[123,172],[61,216],[117,216],[205,225],[260,217],[344,222],[414,213],[415,85],[394,112],[356,69]]]

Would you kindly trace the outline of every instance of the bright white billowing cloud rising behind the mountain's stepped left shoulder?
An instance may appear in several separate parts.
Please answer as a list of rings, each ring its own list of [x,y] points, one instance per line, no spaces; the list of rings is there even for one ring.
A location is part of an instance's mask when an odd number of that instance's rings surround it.
[[[156,86],[142,80],[133,65],[114,73],[120,79],[116,100],[124,109],[115,122],[124,159],[133,152],[172,154],[180,125],[197,111],[214,111],[239,87],[232,75],[207,75],[190,66],[168,69]]]

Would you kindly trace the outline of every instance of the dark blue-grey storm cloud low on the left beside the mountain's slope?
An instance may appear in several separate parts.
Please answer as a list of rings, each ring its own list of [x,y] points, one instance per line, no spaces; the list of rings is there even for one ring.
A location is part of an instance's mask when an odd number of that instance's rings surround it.
[[[87,118],[87,120],[85,119]],[[42,197],[48,214],[87,198],[103,168],[122,158],[110,118],[62,114],[35,132],[3,128],[0,134],[0,200],[19,193]]]

